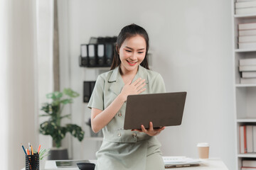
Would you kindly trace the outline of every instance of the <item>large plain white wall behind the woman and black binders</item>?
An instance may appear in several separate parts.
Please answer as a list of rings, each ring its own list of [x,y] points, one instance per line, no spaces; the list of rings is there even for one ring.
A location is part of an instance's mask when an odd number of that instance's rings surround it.
[[[60,24],[60,37],[68,41],[60,50],[66,51],[75,91],[82,94],[82,81],[97,74],[95,69],[78,67],[80,44],[92,36],[118,35],[122,27],[137,23],[149,33],[153,69],[164,77],[167,91],[188,91],[182,125],[166,128],[159,136],[164,155],[198,157],[196,144],[209,142],[210,157],[220,157],[235,169],[230,1],[66,0],[59,4],[65,4],[62,10],[66,10],[59,16],[60,22],[65,21]],[[85,128],[90,111],[81,101],[82,95],[73,103],[72,121]],[[93,158],[86,156],[98,147],[93,143],[73,140],[73,157]]]

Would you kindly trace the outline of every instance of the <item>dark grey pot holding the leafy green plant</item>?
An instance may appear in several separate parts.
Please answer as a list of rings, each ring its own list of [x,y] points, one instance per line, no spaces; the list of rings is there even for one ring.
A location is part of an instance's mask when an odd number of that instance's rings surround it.
[[[68,149],[64,148],[52,148],[50,149],[49,160],[67,160],[68,159]]]

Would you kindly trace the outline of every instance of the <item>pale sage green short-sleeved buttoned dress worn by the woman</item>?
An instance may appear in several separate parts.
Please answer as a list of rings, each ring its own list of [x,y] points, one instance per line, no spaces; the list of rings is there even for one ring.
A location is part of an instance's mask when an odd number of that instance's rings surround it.
[[[146,90],[142,94],[166,92],[164,80],[159,73],[139,66],[133,81],[139,77],[146,79]],[[123,86],[124,81],[119,73],[119,67],[100,74],[97,77],[88,108],[105,110],[114,101],[114,98],[120,94]],[[160,151],[161,144],[156,137],[150,137],[144,132],[123,129],[125,108],[126,102],[102,130],[104,137],[102,146],[96,153],[97,166],[95,169],[164,169]]]

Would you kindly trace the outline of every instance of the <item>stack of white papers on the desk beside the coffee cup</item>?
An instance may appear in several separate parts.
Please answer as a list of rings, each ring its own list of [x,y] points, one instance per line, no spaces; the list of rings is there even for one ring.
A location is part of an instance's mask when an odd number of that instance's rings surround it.
[[[163,157],[164,166],[166,168],[178,167],[178,166],[199,166],[201,163],[198,159],[191,159],[188,157]]]

